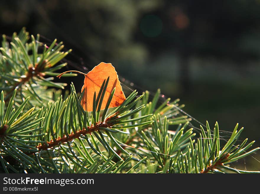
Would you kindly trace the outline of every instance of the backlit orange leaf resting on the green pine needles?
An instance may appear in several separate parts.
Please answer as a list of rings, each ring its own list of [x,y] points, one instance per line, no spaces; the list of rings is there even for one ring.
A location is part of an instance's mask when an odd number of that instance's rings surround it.
[[[111,94],[114,88],[116,88],[116,90],[109,105],[109,108],[118,107],[124,102],[124,100],[126,100],[115,68],[112,66],[111,63],[101,62],[97,66],[95,66],[90,72],[85,74],[84,85],[81,89],[81,92],[83,92],[85,88],[85,93],[83,94],[81,100],[81,105],[84,110],[93,110],[94,92],[98,94],[104,79],[107,79],[108,76],[108,87],[105,91],[105,96],[101,105],[101,110],[105,109],[105,105],[108,101],[109,95]]]

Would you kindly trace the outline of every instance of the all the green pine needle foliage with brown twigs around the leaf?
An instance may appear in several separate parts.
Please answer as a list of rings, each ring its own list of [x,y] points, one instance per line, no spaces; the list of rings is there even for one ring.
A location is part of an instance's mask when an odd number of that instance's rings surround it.
[[[71,83],[70,94],[55,92],[56,65],[68,52],[56,40],[47,48],[23,29],[11,43],[3,36],[0,55],[0,172],[6,173],[212,173],[237,172],[229,163],[259,148],[236,141],[238,125],[220,143],[219,126],[195,134],[178,99],[151,102],[149,92],[133,91],[119,107],[100,110],[108,79],[93,97],[93,111],[84,111],[82,95]],[[11,46],[10,46],[11,45]],[[10,47],[9,47],[10,46]],[[43,47],[42,47],[43,46]],[[38,52],[39,48],[43,52]],[[56,65],[56,66],[55,66]],[[74,76],[74,74],[68,74]],[[195,138],[195,136],[199,138]]]

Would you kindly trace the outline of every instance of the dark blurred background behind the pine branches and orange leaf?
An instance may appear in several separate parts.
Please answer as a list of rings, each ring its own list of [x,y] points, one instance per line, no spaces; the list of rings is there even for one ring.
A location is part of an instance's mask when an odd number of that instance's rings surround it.
[[[73,49],[69,70],[111,62],[128,87],[160,88],[212,128],[218,121],[220,130],[233,131],[239,123],[241,140],[256,140],[256,147],[259,13],[259,0],[1,0],[0,34],[26,27],[47,45],[57,38]],[[71,81],[80,91],[83,77]],[[232,167],[260,170],[260,153],[253,156]]]

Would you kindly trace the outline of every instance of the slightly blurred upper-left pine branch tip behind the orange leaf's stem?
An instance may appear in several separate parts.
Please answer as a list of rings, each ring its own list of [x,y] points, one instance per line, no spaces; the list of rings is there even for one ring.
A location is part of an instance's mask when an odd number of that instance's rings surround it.
[[[40,105],[48,103],[51,90],[45,88],[45,92],[40,94],[39,86],[52,86],[64,89],[66,84],[54,83],[51,80],[58,73],[54,73],[58,69],[66,66],[66,63],[55,66],[62,60],[71,50],[66,52],[61,51],[64,45],[53,41],[49,47],[46,44],[40,43],[40,35],[37,35],[35,40],[26,32],[25,28],[21,30],[19,35],[13,34],[10,42],[6,40],[6,35],[3,35],[2,48],[0,48],[0,89],[5,90],[5,100],[9,101],[12,92],[16,88],[20,98],[32,96],[35,100],[40,102]],[[43,51],[40,52],[40,48]],[[32,53],[31,55],[29,53]],[[46,77],[47,76],[47,77]],[[77,74],[67,74],[64,76],[77,76]],[[49,92],[47,92],[49,90]],[[32,105],[33,106],[33,105]]]

